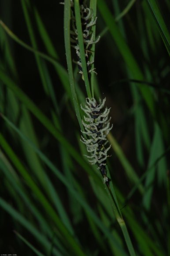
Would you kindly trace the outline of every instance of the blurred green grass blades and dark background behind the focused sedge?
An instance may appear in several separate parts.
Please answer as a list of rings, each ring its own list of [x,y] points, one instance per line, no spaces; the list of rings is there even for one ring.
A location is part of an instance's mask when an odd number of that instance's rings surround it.
[[[170,255],[169,14],[168,0],[97,1],[94,90],[111,107],[108,166],[137,255]],[[0,253],[128,255],[83,156],[63,5],[1,0],[0,19]]]

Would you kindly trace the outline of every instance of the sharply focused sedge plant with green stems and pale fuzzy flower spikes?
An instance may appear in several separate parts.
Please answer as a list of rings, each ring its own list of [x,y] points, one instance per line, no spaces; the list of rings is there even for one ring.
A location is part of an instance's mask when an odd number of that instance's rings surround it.
[[[72,14],[71,17],[71,8],[74,8],[75,16]],[[95,10],[94,6],[94,10]],[[94,11],[96,13],[96,11]],[[74,28],[74,31],[70,31],[70,20],[75,19],[73,21],[74,27],[76,26],[76,29]],[[110,132],[112,126],[110,126],[110,119],[108,120],[108,114],[110,112],[110,109],[105,109],[104,112],[101,112],[101,109],[104,107],[104,103],[106,99],[103,100],[103,102],[98,104],[95,100],[95,98],[92,98],[92,95],[94,95],[94,87],[91,86],[91,81],[89,81],[89,75],[88,72],[90,72],[90,75],[94,75],[93,70],[88,71],[88,62],[89,59],[86,57],[86,54],[88,55],[91,50],[88,49],[89,45],[93,45],[93,52],[94,52],[94,44],[96,43],[94,38],[94,31],[96,26],[96,17],[93,15],[93,9],[89,9],[85,6],[85,1],[79,5],[79,1],[65,1],[64,3],[64,36],[65,36],[65,47],[66,47],[66,56],[67,56],[67,65],[68,65],[68,72],[70,77],[70,84],[72,87],[72,96],[75,101],[74,106],[76,106],[76,112],[77,105],[78,105],[78,98],[76,96],[76,91],[74,87],[74,75],[73,75],[73,69],[71,64],[71,52],[70,52],[70,35],[71,33],[74,33],[74,43],[76,43],[76,46],[74,48],[76,49],[76,53],[78,55],[78,65],[80,66],[80,73],[83,76],[83,80],[85,82],[85,87],[87,91],[87,100],[86,100],[86,106],[84,112],[86,113],[87,117],[85,118],[85,121],[88,121],[89,124],[85,124],[83,121],[83,125],[85,127],[85,131],[82,131],[83,134],[88,135],[88,139],[85,139],[82,136],[82,142],[86,144],[87,151],[91,153],[92,156],[87,156],[90,160],[89,162],[91,164],[97,164],[98,169],[100,169],[100,172],[103,176],[104,183],[107,185],[108,192],[111,196],[111,199],[113,201],[112,207],[115,214],[115,217],[122,229],[123,236],[126,241],[126,245],[129,249],[129,253],[131,256],[135,255],[132,242],[129,237],[129,233],[126,228],[126,224],[123,220],[121,211],[118,206],[118,201],[116,198],[116,195],[111,191],[110,187],[110,179],[107,177],[107,171],[106,171],[106,159],[107,159],[107,151],[110,149],[110,147],[106,148],[107,139],[106,136]],[[91,24],[92,23],[92,24]],[[84,25],[85,24],[85,25]],[[85,28],[83,28],[85,26]],[[93,31],[90,34],[90,31],[87,30],[88,28],[93,27]],[[85,34],[87,33],[87,35]],[[90,38],[87,39],[87,38]],[[98,41],[98,40],[97,40]],[[92,52],[92,53],[93,53]],[[91,54],[92,55],[92,54]],[[94,58],[94,56],[93,56]],[[92,61],[92,64],[94,64],[94,61]],[[92,74],[91,74],[92,73]],[[90,76],[91,77],[91,76]],[[80,112],[80,110],[79,110]],[[81,120],[79,120],[79,123]]]

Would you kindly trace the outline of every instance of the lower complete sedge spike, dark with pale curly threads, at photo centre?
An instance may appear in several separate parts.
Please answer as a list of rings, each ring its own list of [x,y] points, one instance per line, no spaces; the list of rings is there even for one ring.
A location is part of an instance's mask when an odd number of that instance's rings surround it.
[[[113,125],[110,125],[110,109],[107,109],[107,107],[104,108],[105,102],[106,98],[102,102],[100,101],[100,103],[97,103],[95,98],[86,98],[85,108],[81,105],[81,109],[86,114],[84,116],[85,122],[82,120],[85,131],[81,132],[88,137],[86,139],[84,136],[81,136],[81,142],[85,143],[87,151],[90,153],[90,156],[87,156],[89,162],[92,165],[97,164],[104,182],[109,184],[109,178],[106,175],[106,159],[111,145],[107,146],[107,134]]]

